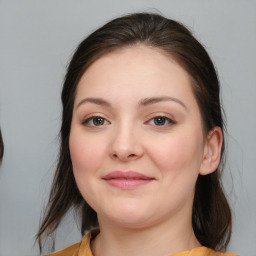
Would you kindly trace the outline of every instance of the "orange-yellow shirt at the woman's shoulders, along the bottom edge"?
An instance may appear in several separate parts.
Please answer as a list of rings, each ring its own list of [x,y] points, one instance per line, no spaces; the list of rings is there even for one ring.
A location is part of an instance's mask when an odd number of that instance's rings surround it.
[[[49,254],[48,256],[93,256],[90,243],[91,238],[94,237],[99,231],[93,230],[89,232],[84,239],[77,244],[71,245],[68,248]],[[194,248],[191,251],[178,252],[169,256],[238,256],[234,253],[216,252],[206,247]]]

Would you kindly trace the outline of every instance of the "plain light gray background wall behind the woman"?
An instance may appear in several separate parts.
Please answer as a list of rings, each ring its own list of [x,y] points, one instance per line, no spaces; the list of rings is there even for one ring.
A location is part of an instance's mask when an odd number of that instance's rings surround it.
[[[34,235],[54,172],[61,84],[75,47],[113,17],[154,8],[188,25],[217,66],[229,131],[229,250],[256,255],[256,1],[0,0],[1,256],[38,255]],[[72,218],[65,222],[57,249],[80,240]]]

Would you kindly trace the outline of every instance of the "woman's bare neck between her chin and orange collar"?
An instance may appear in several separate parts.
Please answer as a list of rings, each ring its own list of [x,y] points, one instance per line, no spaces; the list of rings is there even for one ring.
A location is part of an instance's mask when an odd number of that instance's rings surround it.
[[[120,228],[103,223],[100,222],[100,234],[92,242],[94,256],[163,256],[200,246],[191,221],[184,219],[150,228]]]

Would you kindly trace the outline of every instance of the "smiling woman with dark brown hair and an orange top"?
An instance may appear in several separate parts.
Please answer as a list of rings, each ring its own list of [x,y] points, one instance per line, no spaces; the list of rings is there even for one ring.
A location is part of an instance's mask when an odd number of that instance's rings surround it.
[[[219,82],[183,25],[148,13],[104,25],[76,50],[62,103],[40,246],[74,207],[93,231],[52,255],[223,255]]]

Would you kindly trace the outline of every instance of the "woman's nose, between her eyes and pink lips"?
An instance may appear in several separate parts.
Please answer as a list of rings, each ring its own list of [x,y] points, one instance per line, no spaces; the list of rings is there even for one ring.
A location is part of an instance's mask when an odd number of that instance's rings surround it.
[[[123,162],[141,158],[144,151],[139,137],[132,126],[115,129],[110,145],[111,157]]]

